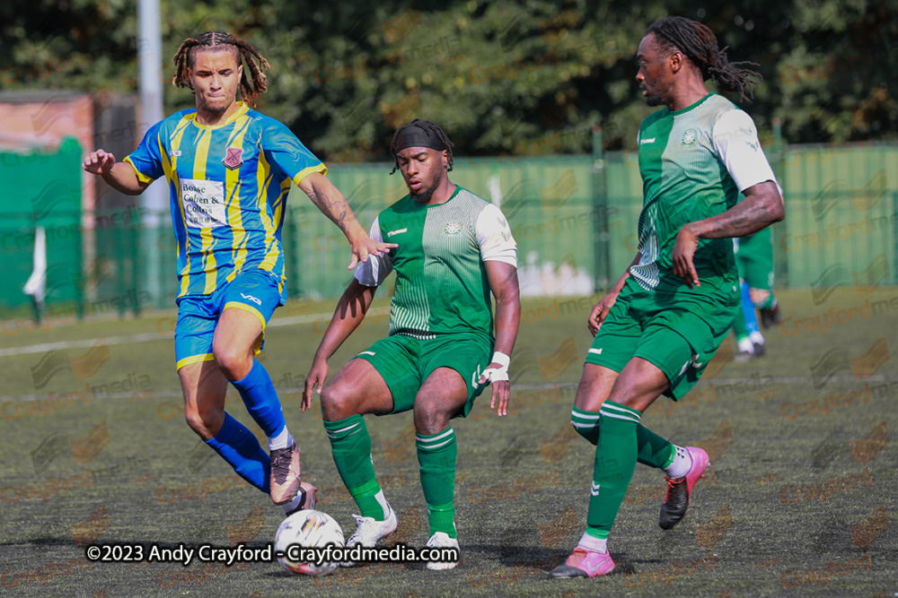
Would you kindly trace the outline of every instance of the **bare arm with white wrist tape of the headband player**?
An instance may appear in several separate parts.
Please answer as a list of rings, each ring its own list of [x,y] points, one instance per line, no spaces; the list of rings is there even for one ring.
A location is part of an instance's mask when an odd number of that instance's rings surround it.
[[[521,322],[521,292],[517,282],[517,268],[492,260],[484,262],[484,267],[487,270],[489,289],[496,298],[496,344],[493,349],[495,353],[510,357],[515,350],[517,328]],[[489,408],[496,409],[499,416],[508,414],[508,399],[511,396],[507,367],[507,363],[493,361],[478,381],[478,384],[484,384],[488,378],[487,372],[491,369],[504,370],[506,379],[492,381],[493,398],[489,402]]]

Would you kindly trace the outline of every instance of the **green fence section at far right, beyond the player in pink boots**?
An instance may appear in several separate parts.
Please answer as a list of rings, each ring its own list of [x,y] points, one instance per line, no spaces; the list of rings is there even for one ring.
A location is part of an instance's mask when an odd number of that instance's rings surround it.
[[[898,282],[898,147],[793,147],[779,161],[787,200],[786,220],[774,227],[780,282]]]

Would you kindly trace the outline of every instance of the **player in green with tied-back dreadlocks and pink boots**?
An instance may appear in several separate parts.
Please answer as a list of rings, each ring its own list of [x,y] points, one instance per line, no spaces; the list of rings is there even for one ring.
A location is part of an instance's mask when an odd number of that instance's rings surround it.
[[[739,306],[730,238],[784,215],[752,118],[705,86],[712,79],[747,100],[753,72],[728,63],[714,33],[682,17],[654,22],[638,61],[647,103],[665,108],[639,127],[638,254],[589,316],[596,336],[571,414],[596,446],[586,532],[551,577],[612,571],[608,534],[637,462],[667,475],[661,527],[685,515],[708,455],[658,437],[642,413],[661,394],[686,394],[729,333]]]

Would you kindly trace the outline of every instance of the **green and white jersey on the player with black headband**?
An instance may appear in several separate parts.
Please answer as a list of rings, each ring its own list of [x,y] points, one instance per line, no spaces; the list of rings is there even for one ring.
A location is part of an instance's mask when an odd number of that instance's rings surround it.
[[[517,266],[515,239],[495,205],[462,186],[444,204],[418,204],[406,195],[378,214],[369,236],[399,244],[389,254],[371,256],[356,272],[358,282],[376,287],[396,271],[391,335],[473,333],[493,342],[484,262]]]

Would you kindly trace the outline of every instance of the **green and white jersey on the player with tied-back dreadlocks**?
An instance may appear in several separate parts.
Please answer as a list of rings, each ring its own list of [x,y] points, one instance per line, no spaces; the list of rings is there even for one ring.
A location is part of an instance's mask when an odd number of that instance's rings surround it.
[[[639,215],[642,259],[630,275],[644,289],[685,291],[672,255],[684,224],[716,216],[740,200],[740,192],[776,182],[757,129],[735,104],[716,93],[682,110],[662,108],[639,126],[639,172],[644,203]],[[733,241],[702,238],[693,257],[706,290],[738,281]],[[697,292],[704,292],[701,288]]]

